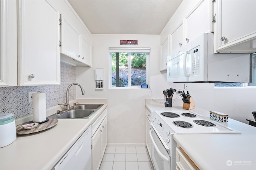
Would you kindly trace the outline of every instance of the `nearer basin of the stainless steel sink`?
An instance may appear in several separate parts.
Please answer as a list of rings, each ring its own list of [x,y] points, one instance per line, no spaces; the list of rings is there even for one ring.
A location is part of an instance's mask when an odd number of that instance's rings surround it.
[[[65,118],[71,118],[71,119],[76,119],[76,118],[90,118],[93,115],[94,111],[93,110],[70,110],[67,111],[61,115],[58,116],[60,119],[65,119]]]

